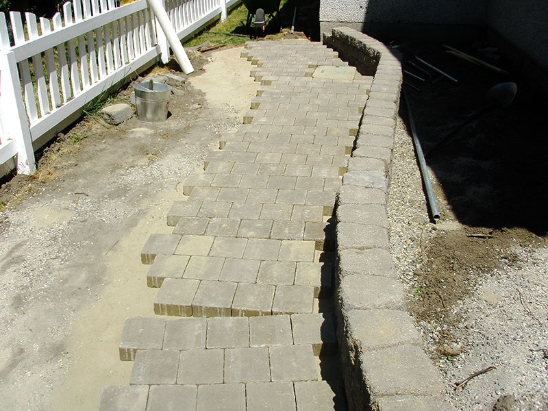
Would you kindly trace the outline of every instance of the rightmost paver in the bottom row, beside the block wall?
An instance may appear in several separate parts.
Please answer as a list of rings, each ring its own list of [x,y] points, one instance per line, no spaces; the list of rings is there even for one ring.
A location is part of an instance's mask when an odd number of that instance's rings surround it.
[[[345,396],[340,384],[327,381],[295,382],[299,411],[346,411]]]

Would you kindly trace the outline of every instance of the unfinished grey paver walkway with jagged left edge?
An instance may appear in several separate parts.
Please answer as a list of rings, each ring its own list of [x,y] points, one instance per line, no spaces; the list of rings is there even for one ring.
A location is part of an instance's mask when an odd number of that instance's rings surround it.
[[[186,179],[173,234],[143,248],[160,316],[125,321],[130,386],[106,387],[101,411],[345,410],[331,217],[371,77],[312,77],[347,64],[303,40],[250,42],[242,57],[258,97]]]

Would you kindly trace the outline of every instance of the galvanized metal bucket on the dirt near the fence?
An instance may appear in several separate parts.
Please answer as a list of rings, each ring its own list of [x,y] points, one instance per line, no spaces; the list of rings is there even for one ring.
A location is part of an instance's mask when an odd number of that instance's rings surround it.
[[[167,119],[171,86],[144,82],[136,84],[134,90],[138,120],[144,123],[158,123]]]

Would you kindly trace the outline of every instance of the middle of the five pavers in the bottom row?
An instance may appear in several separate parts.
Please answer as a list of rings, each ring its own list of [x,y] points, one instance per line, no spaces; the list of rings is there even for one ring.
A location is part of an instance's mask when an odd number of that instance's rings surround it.
[[[198,387],[197,411],[245,410],[244,384],[215,384]]]

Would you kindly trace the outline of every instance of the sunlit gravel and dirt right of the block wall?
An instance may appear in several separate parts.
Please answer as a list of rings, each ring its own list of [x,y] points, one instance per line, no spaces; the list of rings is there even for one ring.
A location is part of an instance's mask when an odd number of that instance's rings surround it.
[[[390,247],[408,311],[445,379],[449,401],[463,411],[548,410],[545,238],[518,229],[470,238],[484,227],[462,225],[435,177],[432,182],[442,213],[437,225],[429,223],[412,139],[398,119],[388,192]],[[477,254],[475,260],[459,258],[460,243],[463,253]],[[453,277],[459,284],[449,284]],[[438,303],[427,299],[430,288]],[[425,300],[428,310],[421,307]],[[495,369],[455,389],[456,382],[490,366]]]

